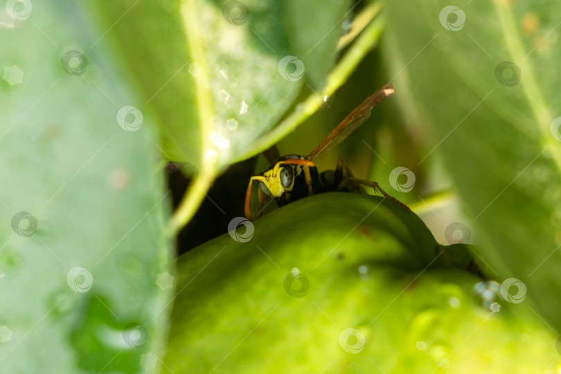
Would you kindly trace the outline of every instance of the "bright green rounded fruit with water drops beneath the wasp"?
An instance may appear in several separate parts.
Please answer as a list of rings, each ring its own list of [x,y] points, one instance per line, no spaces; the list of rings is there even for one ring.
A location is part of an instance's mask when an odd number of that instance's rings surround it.
[[[491,283],[427,267],[418,253],[437,258],[438,243],[416,241],[428,230],[402,213],[380,197],[326,193],[186,253],[164,372],[535,373],[561,363],[555,336],[531,312],[517,319]]]

